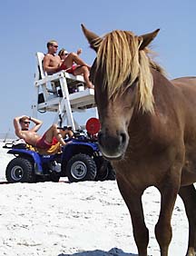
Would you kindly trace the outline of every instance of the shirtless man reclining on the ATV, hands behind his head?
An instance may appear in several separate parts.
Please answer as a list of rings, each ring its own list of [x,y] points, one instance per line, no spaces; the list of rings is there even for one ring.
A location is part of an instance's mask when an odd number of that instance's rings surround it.
[[[30,121],[34,123],[34,127],[31,129],[29,129]],[[73,132],[70,130],[60,132],[57,125],[53,124],[43,136],[40,136],[36,132],[40,129],[42,124],[42,121],[30,116],[28,117],[26,115],[22,115],[15,117],[15,135],[17,135],[20,139],[24,139],[25,143],[45,150],[49,149],[57,142],[61,143],[63,146],[66,145],[63,138],[65,134],[68,134],[70,137],[73,135]]]

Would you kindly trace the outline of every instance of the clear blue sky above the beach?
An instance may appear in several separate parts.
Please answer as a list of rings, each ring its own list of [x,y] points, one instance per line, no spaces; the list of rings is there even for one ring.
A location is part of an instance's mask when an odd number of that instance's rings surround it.
[[[1,94],[0,132],[13,129],[16,115],[32,114],[37,51],[56,39],[68,51],[83,48],[81,57],[93,63],[95,54],[85,40],[81,23],[96,34],[114,29],[135,34],[161,28],[152,43],[156,61],[170,78],[196,75],[196,1],[55,1],[6,0],[0,8]],[[85,114],[84,114],[85,119]],[[54,114],[38,114],[45,130]]]

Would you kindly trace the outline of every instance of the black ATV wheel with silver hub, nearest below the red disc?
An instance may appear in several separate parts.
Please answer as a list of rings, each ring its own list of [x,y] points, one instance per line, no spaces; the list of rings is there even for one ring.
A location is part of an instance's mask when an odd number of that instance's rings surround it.
[[[96,164],[87,154],[76,154],[67,162],[66,175],[69,182],[94,181],[96,172]]]

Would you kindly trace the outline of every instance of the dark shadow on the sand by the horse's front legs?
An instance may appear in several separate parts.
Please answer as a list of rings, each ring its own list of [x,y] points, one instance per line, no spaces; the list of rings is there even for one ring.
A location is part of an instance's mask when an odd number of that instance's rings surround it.
[[[61,253],[58,256],[138,256],[138,254],[124,252],[121,249],[113,248],[110,251],[94,250],[94,251],[81,251],[73,254]]]

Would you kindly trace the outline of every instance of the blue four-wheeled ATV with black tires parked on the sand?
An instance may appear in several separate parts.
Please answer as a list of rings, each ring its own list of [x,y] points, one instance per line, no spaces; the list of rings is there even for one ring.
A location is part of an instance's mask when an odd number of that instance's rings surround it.
[[[25,145],[5,143],[7,153],[14,154],[6,167],[7,182],[59,182],[67,177],[69,182],[115,180],[111,162],[103,158],[96,138],[85,133],[74,133],[67,139],[62,153],[42,155],[28,150]]]

